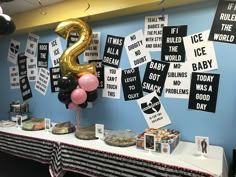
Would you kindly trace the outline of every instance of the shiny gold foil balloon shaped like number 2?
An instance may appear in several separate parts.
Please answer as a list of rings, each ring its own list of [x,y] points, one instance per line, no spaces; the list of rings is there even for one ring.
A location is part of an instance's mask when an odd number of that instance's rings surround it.
[[[87,23],[80,19],[68,19],[61,22],[55,29],[55,32],[68,39],[71,32],[77,32],[79,39],[76,43],[68,47],[60,57],[59,65],[62,75],[72,73],[81,76],[82,73],[91,73],[96,75],[95,63],[78,64],[77,57],[88,47],[92,39],[92,30]]]

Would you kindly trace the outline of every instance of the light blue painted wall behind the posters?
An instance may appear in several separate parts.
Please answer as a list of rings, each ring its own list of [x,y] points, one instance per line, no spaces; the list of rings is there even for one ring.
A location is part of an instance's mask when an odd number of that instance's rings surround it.
[[[170,26],[188,25],[188,35],[202,32],[211,28],[217,0],[206,1],[173,9],[166,9],[169,15]],[[144,29],[144,17],[160,15],[161,11],[115,18],[112,20],[92,23],[93,31],[101,32],[101,56],[103,55],[107,34],[127,36],[139,29]],[[52,30],[35,32],[40,36],[40,42],[50,42],[58,37]],[[11,101],[22,101],[20,90],[11,90],[9,85],[9,66],[7,61],[8,45],[13,38],[21,42],[21,51],[24,51],[28,34],[4,37],[0,39],[0,115],[1,119],[8,118],[9,104]],[[63,49],[66,41],[61,38]],[[194,111],[188,109],[187,99],[171,99],[161,97],[162,104],[168,113],[172,124],[169,128],[179,130],[182,140],[194,142],[195,136],[208,136],[210,144],[224,147],[228,160],[231,160],[232,149],[236,147],[236,45],[214,42],[215,53],[219,69],[211,71],[220,74],[220,84],[216,113]],[[151,52],[152,58],[160,59],[160,52]],[[121,56],[122,69],[130,68],[125,49]],[[49,59],[50,60],[50,59]],[[80,57],[82,61],[82,56]],[[49,62],[50,63],[50,62]],[[50,63],[51,64],[51,63]],[[51,66],[50,66],[51,67]],[[140,67],[141,78],[144,66]],[[57,99],[56,93],[51,93],[48,87],[46,96],[34,90],[31,83],[33,98],[28,100],[30,111],[35,117],[49,117],[52,121],[62,122],[70,120],[75,123],[76,113],[66,110]],[[147,124],[139,110],[136,101],[125,102],[121,90],[121,99],[99,98],[93,103],[92,109],[81,109],[82,125],[92,123],[105,124],[107,129],[131,129],[137,133],[142,132]]]

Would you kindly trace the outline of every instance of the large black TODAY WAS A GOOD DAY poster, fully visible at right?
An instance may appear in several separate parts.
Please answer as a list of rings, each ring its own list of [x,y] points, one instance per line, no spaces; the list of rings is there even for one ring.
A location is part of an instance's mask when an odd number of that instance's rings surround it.
[[[219,80],[219,74],[193,72],[188,108],[215,112]]]

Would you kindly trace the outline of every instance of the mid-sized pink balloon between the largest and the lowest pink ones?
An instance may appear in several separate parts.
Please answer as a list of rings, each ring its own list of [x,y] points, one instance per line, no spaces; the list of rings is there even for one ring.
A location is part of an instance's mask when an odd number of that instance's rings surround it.
[[[76,88],[71,92],[70,98],[73,103],[82,104],[87,99],[87,93],[84,89]]]

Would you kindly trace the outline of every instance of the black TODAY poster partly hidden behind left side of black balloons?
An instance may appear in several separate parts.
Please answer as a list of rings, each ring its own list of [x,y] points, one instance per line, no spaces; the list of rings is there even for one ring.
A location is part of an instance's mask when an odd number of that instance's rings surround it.
[[[58,79],[61,78],[60,67],[50,68],[51,92],[59,92]]]

